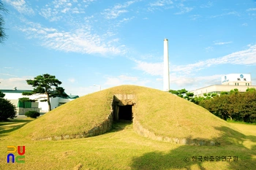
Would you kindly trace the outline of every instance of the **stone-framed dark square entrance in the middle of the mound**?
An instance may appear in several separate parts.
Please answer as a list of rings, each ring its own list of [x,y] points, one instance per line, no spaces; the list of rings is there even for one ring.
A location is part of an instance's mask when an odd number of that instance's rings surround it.
[[[113,120],[132,121],[135,104],[135,95],[133,94],[114,94]]]

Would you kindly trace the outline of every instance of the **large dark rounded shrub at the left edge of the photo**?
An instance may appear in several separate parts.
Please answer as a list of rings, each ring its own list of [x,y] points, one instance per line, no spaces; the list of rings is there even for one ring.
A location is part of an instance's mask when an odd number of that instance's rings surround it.
[[[16,107],[7,99],[0,98],[0,120],[13,119],[16,115]]]

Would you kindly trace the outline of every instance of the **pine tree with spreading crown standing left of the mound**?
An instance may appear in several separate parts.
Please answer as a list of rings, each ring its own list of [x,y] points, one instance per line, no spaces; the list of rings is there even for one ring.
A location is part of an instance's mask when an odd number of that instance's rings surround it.
[[[61,81],[56,79],[55,76],[50,74],[42,74],[37,77],[34,77],[34,80],[26,80],[28,85],[32,85],[34,90],[31,93],[23,93],[23,95],[29,96],[33,94],[45,94],[46,98],[42,101],[48,102],[48,110],[51,110],[50,98],[55,97],[67,97],[67,94],[64,93],[64,88],[59,87]]]

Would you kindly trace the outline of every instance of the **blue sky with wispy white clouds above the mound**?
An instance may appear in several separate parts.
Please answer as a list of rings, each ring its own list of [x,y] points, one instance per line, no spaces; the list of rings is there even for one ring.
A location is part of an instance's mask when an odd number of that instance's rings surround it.
[[[163,40],[170,89],[221,84],[252,74],[255,0],[1,0],[8,39],[0,45],[0,89],[31,89],[52,74],[80,96],[116,85],[162,90]]]

